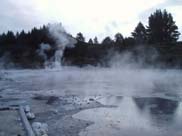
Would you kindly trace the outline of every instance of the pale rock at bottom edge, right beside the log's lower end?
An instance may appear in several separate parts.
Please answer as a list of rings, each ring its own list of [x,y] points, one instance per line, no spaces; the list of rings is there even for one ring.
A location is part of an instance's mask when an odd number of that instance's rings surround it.
[[[36,136],[48,136],[48,125],[46,123],[34,122],[32,123],[32,128]]]

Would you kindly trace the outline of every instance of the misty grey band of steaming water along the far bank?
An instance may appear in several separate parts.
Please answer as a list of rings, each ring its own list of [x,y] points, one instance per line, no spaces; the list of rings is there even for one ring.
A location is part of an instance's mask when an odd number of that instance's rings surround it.
[[[182,72],[178,70],[63,67],[58,70],[3,71],[1,90],[57,95],[160,96],[181,99]],[[6,90],[6,91],[5,91]]]

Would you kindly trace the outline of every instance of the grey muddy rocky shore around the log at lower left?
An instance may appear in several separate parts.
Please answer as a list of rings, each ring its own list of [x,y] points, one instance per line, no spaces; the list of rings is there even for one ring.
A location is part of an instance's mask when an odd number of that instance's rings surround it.
[[[30,105],[36,118],[33,122],[48,124],[49,136],[77,136],[79,132],[93,122],[75,119],[72,115],[81,110],[107,107],[95,100],[96,98],[80,98],[78,96],[44,96],[34,95],[22,100],[20,98],[0,98],[0,136],[24,136],[25,131],[18,110],[3,107]]]

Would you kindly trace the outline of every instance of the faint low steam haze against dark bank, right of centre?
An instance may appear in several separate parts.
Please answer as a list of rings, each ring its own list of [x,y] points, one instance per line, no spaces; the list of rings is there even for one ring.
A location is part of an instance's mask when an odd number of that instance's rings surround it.
[[[158,56],[159,54],[156,49],[139,46],[130,51],[110,51],[106,60],[111,68],[154,68],[154,64],[157,64]]]

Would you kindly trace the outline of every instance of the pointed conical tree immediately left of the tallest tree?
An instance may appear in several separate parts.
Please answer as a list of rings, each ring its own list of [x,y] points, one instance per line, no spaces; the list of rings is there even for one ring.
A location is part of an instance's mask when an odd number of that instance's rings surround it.
[[[135,39],[137,44],[143,44],[147,41],[147,32],[144,25],[139,22],[134,32],[132,32],[132,36]]]

